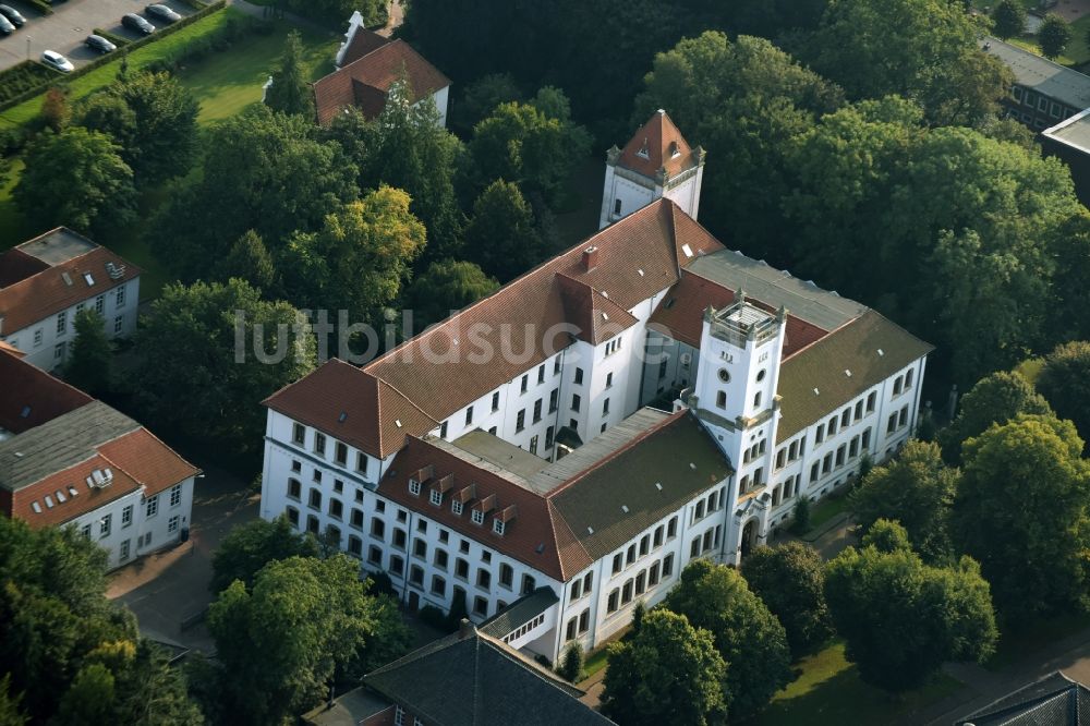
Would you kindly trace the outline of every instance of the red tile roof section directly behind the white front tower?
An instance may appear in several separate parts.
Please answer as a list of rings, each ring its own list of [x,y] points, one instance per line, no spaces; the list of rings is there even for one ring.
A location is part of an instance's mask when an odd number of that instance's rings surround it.
[[[770,313],[773,305],[746,295],[749,302]],[[693,348],[700,348],[704,311],[708,305],[722,310],[735,301],[735,292],[694,273],[685,270],[681,280],[663,295],[663,302],[651,315],[647,325],[674,340]],[[829,331],[808,323],[800,317],[787,315],[787,334],[784,339],[783,360],[787,360],[810,343],[821,340]]]

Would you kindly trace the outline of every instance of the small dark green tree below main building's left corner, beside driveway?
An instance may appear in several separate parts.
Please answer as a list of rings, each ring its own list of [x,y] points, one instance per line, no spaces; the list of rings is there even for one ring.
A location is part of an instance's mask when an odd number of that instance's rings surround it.
[[[223,537],[211,558],[208,589],[218,593],[235,580],[252,588],[257,572],[274,560],[317,556],[317,541],[299,532],[286,517],[271,522],[256,519],[233,528]]]

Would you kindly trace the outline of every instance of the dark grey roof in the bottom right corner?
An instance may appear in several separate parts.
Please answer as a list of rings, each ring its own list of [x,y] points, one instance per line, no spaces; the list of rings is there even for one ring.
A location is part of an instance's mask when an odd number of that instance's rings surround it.
[[[1090,723],[1090,689],[1057,670],[954,723],[955,726],[1079,726]]]

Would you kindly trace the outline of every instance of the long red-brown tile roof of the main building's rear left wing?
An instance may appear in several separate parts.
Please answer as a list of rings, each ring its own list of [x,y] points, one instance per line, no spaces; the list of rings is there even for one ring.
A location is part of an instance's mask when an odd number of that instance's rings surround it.
[[[588,269],[583,252],[590,246],[597,251],[596,262]],[[616,335],[606,328],[615,316],[623,329],[631,317],[627,311],[676,283],[690,259],[722,249],[673,202],[661,199],[405,341],[365,366],[367,375],[344,363],[327,363],[274,394],[265,404],[385,458],[398,450],[405,434],[427,433],[437,422],[567,346],[564,338],[569,328],[560,326],[579,322],[570,319],[569,312],[582,315],[584,322],[591,303],[597,312],[607,312],[608,323],[598,315],[595,330],[581,332],[586,339],[604,340]],[[573,289],[583,292],[565,294]],[[528,336],[526,330],[532,334]],[[504,350],[516,355],[502,355]],[[494,354],[482,355],[487,351]],[[379,389],[382,399],[389,402],[382,412]],[[390,428],[390,410],[400,416],[402,428]],[[349,415],[338,423],[342,411]]]

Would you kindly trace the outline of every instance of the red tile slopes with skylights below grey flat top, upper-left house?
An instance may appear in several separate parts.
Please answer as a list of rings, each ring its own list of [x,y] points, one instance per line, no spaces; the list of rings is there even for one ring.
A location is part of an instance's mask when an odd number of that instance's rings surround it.
[[[124,273],[121,278],[111,279],[106,271],[106,263],[113,263],[119,269],[123,267]],[[71,285],[64,281],[65,273],[72,280]],[[87,285],[83,277],[84,273],[90,274],[94,285]],[[59,265],[47,267],[0,289],[3,335],[22,330],[81,301],[112,290],[140,274],[138,267],[102,246]]]

